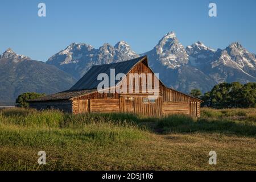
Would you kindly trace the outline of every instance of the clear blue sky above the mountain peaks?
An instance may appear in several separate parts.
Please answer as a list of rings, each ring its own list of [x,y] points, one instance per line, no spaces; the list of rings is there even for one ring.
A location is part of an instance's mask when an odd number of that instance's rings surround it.
[[[38,17],[40,2],[45,18]],[[210,2],[217,4],[217,17],[208,16]],[[1,0],[0,7],[0,52],[11,47],[35,60],[46,61],[72,42],[98,48],[125,40],[143,53],[170,31],[183,46],[201,40],[225,48],[238,41],[256,53],[255,0]]]

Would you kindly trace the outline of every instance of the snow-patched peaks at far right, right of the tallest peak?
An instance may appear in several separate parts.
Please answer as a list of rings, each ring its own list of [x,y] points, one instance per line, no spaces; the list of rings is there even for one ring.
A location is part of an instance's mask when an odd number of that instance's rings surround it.
[[[199,68],[217,83],[239,81],[255,82],[255,55],[239,43],[214,51],[203,43],[188,46],[189,64]]]

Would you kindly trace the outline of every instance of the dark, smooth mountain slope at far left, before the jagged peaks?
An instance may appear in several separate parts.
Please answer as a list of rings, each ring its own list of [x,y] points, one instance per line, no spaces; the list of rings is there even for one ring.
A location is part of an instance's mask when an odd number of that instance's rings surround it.
[[[11,49],[0,55],[0,105],[13,105],[24,92],[50,94],[67,90],[75,82],[68,73]]]

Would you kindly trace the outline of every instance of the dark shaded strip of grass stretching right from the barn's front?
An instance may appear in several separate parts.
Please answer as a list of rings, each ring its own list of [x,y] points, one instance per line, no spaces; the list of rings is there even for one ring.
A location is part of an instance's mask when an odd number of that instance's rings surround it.
[[[185,115],[172,115],[159,119],[155,126],[158,133],[225,133],[256,137],[256,126],[251,122],[230,121],[229,119],[193,119]]]

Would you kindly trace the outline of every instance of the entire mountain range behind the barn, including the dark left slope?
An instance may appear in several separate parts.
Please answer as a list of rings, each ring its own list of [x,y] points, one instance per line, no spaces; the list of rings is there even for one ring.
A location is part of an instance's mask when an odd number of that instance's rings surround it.
[[[0,77],[8,78],[5,81],[1,79],[0,94],[10,90],[10,85],[14,92],[10,93],[9,99],[0,97],[0,102],[13,100],[22,92],[53,93],[65,90],[92,65],[115,63],[143,55],[148,56],[150,67],[159,73],[167,86],[184,93],[194,88],[204,93],[220,82],[256,82],[256,56],[240,43],[217,50],[202,42],[184,47],[175,33],[169,32],[154,48],[141,54],[133,51],[124,41],[115,46],[104,44],[98,49],[89,44],[72,43],[43,63],[8,49],[0,56]]]

